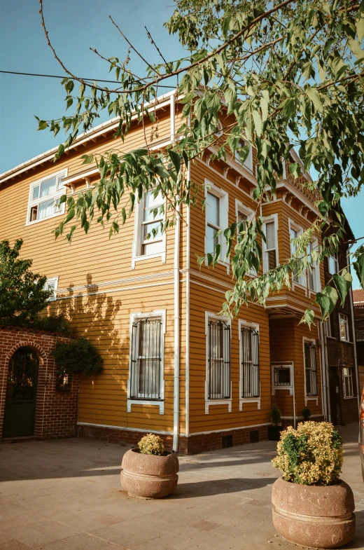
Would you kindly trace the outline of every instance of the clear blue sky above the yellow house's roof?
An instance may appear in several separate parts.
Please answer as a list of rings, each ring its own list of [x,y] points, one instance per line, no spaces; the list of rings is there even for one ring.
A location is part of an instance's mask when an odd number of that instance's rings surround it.
[[[74,74],[85,78],[111,78],[109,67],[90,51],[125,59],[127,45],[113,27],[113,17],[149,62],[160,62],[146,36],[144,25],[167,60],[178,59],[183,49],[162,22],[173,12],[172,0],[43,0],[45,22],[59,57]],[[0,69],[63,75],[45,42],[37,0],[0,0]],[[132,55],[133,72],[142,74],[144,63]],[[62,142],[50,132],[36,132],[39,118],[64,114],[64,88],[56,78],[0,74],[0,173]],[[99,122],[106,120],[101,118]],[[356,237],[364,235],[364,190],[344,199],[344,212]],[[354,277],[354,288],[359,283]]]

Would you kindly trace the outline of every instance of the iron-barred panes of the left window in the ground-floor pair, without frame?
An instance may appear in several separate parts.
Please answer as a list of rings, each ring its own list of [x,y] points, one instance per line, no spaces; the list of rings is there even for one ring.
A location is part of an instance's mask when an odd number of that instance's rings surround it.
[[[209,320],[207,326],[208,399],[229,399],[230,326],[218,320]]]

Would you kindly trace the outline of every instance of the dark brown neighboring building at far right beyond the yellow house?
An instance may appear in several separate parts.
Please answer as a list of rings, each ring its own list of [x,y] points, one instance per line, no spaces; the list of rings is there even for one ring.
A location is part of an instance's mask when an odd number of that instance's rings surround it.
[[[353,240],[354,235],[347,222],[345,229],[345,240]],[[330,226],[328,227],[328,234],[330,234]],[[325,284],[330,281],[332,275],[347,266],[348,254],[349,246],[341,244],[337,254],[325,258],[323,261]],[[344,305],[337,301],[335,310],[322,326],[323,394],[327,404],[328,420],[334,425],[349,424],[349,422],[358,420],[358,408],[360,406],[351,289],[346,296]]]

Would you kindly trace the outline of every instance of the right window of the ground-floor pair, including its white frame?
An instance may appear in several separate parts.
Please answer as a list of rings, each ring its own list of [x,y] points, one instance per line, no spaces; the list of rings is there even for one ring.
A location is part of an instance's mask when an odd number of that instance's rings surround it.
[[[239,319],[239,408],[244,401],[255,401],[260,408],[259,325]]]

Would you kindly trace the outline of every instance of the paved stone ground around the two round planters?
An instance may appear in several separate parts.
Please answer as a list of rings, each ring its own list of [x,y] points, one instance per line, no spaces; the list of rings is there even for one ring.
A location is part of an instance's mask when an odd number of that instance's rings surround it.
[[[358,425],[345,440],[342,479],[356,498],[357,532],[347,549],[364,548],[364,483]],[[0,446],[1,550],[281,550],[270,495],[279,473],[275,444],[265,441],[180,459],[179,486],[164,500],[136,500],[120,490],[127,447],[85,439]]]

